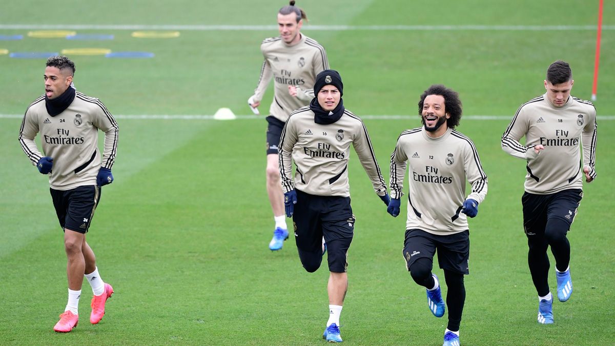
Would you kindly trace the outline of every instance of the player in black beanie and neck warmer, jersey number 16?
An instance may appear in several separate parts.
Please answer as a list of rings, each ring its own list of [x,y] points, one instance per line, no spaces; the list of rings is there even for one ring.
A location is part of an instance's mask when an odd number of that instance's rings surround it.
[[[376,195],[389,202],[386,185],[371,147],[367,129],[358,116],[344,108],[341,76],[335,70],[318,74],[316,97],[288,118],[280,140],[279,174],[285,211],[293,218],[299,259],[309,273],[322,262],[324,236],[329,265],[329,320],[323,339],[341,342],[339,315],[348,288],[347,252],[354,234],[350,205],[348,161],[350,147],[370,177]],[[295,177],[292,177],[295,161]]]

